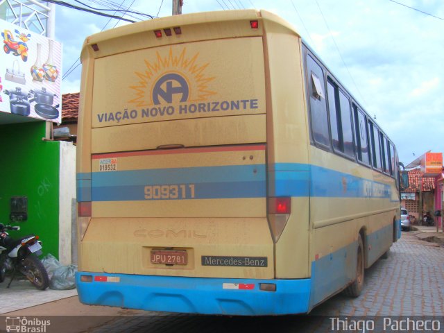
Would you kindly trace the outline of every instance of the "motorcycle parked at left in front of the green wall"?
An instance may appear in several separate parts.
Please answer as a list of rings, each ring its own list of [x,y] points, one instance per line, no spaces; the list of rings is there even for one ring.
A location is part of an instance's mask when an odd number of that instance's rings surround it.
[[[49,277],[42,262],[37,257],[42,254],[42,242],[36,235],[12,239],[6,230],[20,230],[18,226],[0,223],[0,282],[6,278],[6,272],[12,271],[11,280],[19,271],[37,289],[44,290],[49,286]]]

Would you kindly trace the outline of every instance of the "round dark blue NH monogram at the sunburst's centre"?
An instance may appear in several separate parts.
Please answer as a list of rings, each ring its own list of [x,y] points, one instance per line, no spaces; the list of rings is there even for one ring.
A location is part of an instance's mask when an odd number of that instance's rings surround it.
[[[162,76],[154,85],[153,102],[160,104],[159,97],[167,103],[173,103],[173,95],[180,94],[180,102],[188,100],[189,88],[185,78],[179,74],[169,73]]]

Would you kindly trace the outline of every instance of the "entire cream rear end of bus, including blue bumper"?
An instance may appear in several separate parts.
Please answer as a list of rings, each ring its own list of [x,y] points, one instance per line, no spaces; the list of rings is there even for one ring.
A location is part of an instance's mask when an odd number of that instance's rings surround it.
[[[80,301],[307,312],[298,35],[267,12],[180,15],[88,37],[82,63]]]

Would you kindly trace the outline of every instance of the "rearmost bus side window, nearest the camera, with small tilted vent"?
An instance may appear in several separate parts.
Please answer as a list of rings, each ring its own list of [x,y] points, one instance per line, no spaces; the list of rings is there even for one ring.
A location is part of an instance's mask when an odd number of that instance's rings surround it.
[[[327,106],[325,105],[324,75],[311,56],[307,56],[307,73],[309,74],[310,94],[310,119],[314,141],[326,147],[330,147],[330,135],[328,131]]]

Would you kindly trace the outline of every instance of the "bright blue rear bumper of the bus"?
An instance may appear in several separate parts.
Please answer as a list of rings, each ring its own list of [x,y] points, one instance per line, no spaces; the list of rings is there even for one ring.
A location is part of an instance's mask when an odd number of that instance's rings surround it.
[[[81,282],[80,275],[92,276],[92,282]],[[89,305],[234,316],[307,313],[311,289],[310,279],[238,280],[89,272],[78,272],[76,283],[80,302]],[[259,283],[276,284],[276,291],[262,291]],[[254,286],[231,289],[237,284]]]

